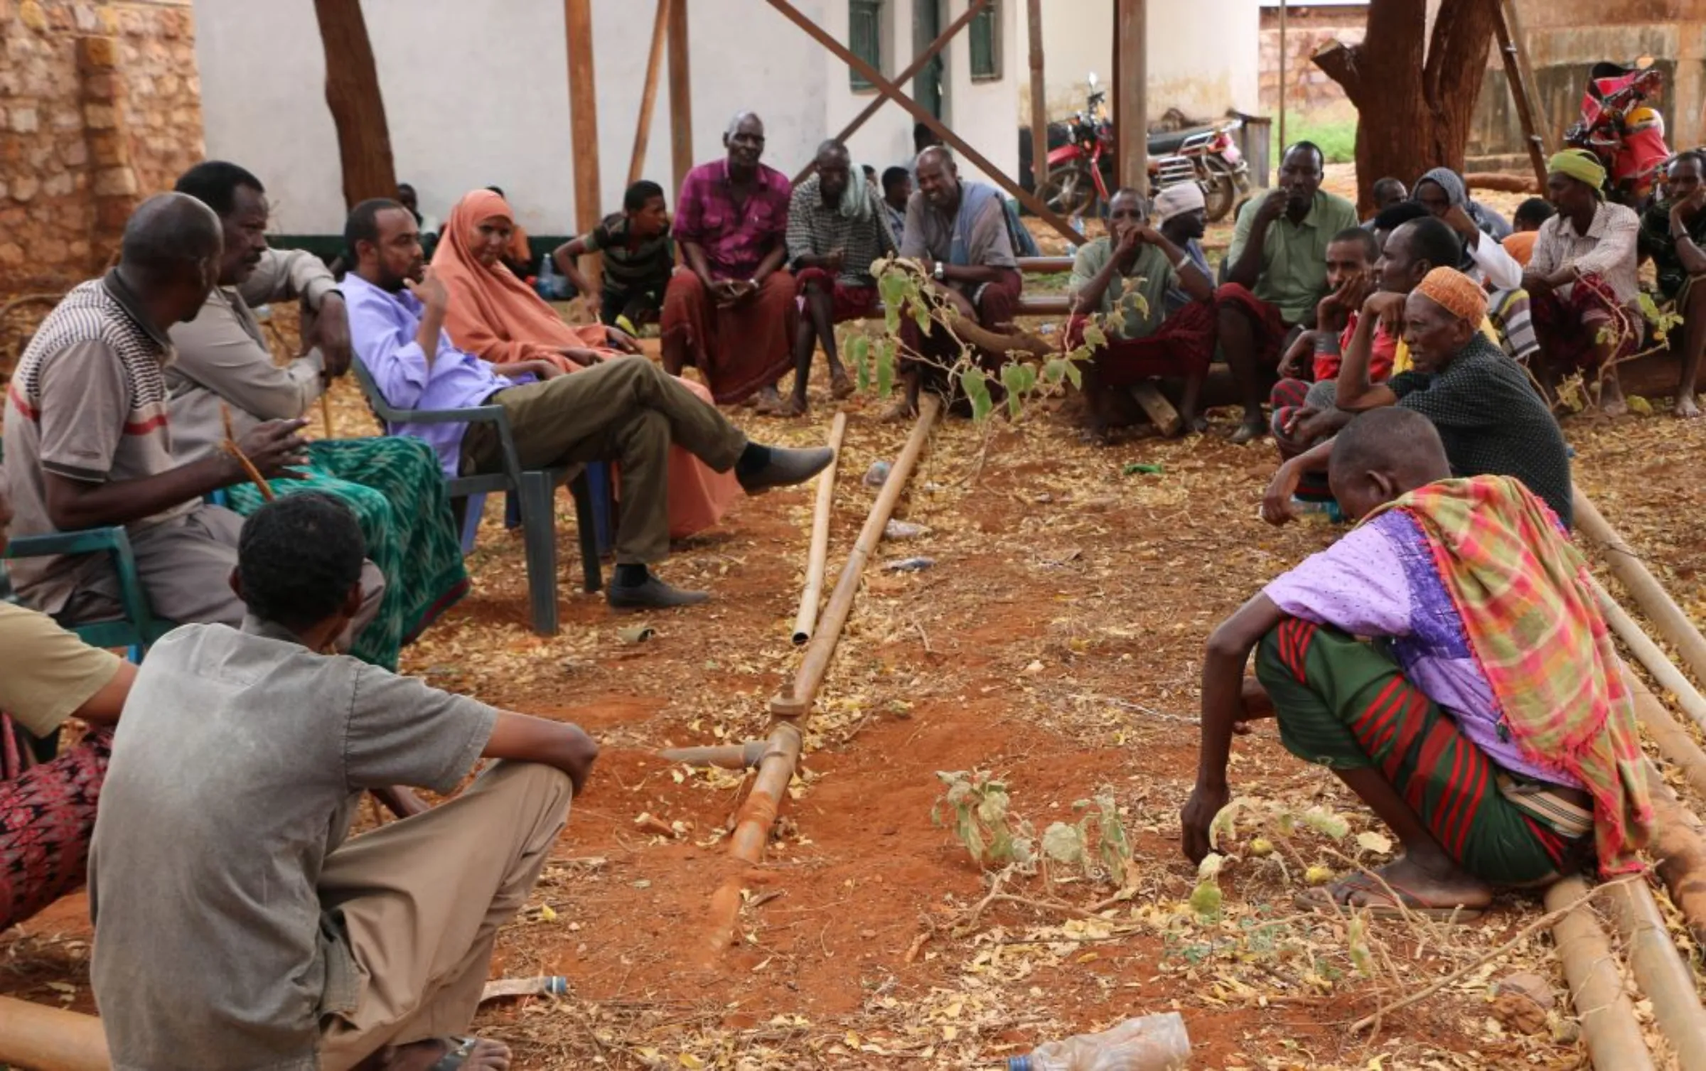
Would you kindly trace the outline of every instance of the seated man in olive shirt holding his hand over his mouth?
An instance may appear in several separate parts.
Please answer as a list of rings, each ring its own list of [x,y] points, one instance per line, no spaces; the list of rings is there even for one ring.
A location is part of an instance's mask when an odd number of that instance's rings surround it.
[[[1105,237],[1078,249],[1068,285],[1073,305],[1068,343],[1078,346],[1088,316],[1105,319],[1107,344],[1085,367],[1090,435],[1102,442],[1131,385],[1155,375],[1186,377],[1179,416],[1201,431],[1196,399],[1215,350],[1215,285],[1191,254],[1150,227],[1143,194],[1126,188],[1107,205]],[[1189,302],[1167,316],[1167,292]]]

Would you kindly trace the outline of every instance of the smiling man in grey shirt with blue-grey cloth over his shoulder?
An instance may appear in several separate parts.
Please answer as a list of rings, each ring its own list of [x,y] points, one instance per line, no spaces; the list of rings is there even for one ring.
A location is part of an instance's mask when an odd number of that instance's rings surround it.
[[[959,177],[954,153],[940,145],[918,153],[918,193],[906,203],[906,237],[901,256],[920,261],[931,287],[988,329],[1013,322],[1024,278],[1013,259],[1013,235],[1007,230],[1007,205],[995,186]],[[945,372],[960,358],[960,343],[940,324],[928,334],[911,317],[901,324],[901,341],[920,355],[901,360],[906,397],[889,413],[904,418],[918,411],[925,380],[942,385]],[[998,372],[1005,353],[978,350],[978,363]]]

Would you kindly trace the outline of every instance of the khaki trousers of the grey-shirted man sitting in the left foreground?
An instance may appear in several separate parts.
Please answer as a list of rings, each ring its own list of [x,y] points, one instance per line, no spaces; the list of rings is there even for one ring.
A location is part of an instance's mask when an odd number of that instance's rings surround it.
[[[322,1071],[467,1032],[498,926],[527,902],[572,795],[558,769],[496,762],[454,800],[326,856],[321,906],[343,918],[360,998],[321,1020]]]

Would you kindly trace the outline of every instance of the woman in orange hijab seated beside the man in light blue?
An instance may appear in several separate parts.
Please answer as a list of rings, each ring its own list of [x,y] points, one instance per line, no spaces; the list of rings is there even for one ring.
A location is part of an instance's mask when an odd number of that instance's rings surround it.
[[[602,360],[647,360],[633,339],[616,327],[573,327],[503,266],[503,251],[515,232],[508,201],[490,189],[466,194],[450,210],[433,251],[433,275],[450,290],[444,317],[457,348],[495,365],[544,360],[578,372]],[[681,380],[711,404],[711,394]],[[669,452],[669,536],[682,539],[711,527],[740,493],[734,471],[713,472],[681,447]]]

